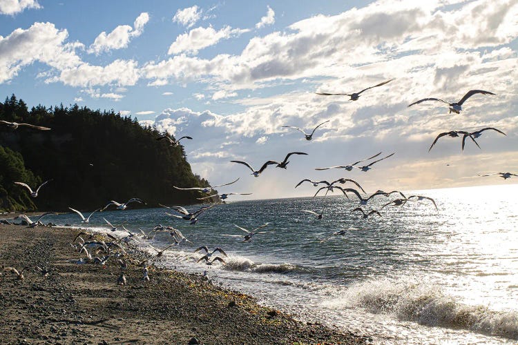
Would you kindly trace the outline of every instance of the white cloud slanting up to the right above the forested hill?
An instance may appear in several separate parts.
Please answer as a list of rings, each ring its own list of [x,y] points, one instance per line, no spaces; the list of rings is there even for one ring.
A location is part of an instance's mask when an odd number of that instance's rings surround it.
[[[134,37],[139,37],[144,31],[144,26],[149,21],[149,14],[147,12],[142,12],[135,22],[133,23],[134,28],[128,25],[117,26],[117,28],[113,29],[112,32],[106,34],[106,32],[101,32],[95,41],[88,49],[88,52],[95,54],[99,54],[100,52],[105,52],[113,49],[126,48],[128,43]]]

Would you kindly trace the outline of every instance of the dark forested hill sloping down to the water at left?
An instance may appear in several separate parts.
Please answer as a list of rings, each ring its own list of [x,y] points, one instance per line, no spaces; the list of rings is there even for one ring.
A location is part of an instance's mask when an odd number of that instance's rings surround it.
[[[148,206],[193,204],[194,192],[175,186],[209,186],[193,175],[183,147],[157,141],[163,133],[112,111],[33,107],[15,95],[0,103],[0,120],[51,130],[0,124],[0,210],[94,210],[132,197]],[[33,190],[47,179],[36,198]],[[131,206],[142,206],[131,204]]]

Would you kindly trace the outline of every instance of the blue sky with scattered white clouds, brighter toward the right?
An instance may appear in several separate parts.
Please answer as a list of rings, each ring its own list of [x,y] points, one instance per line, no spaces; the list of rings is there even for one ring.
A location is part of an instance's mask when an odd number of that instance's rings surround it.
[[[238,199],[313,195],[301,179],[367,192],[512,184],[518,173],[518,1],[0,0],[0,97],[137,117],[182,144]],[[361,94],[352,93],[394,79]],[[459,101],[460,114],[426,97]],[[320,126],[311,141],[306,132]],[[488,130],[461,151],[441,132]],[[292,155],[287,169],[253,168]],[[359,169],[314,170],[395,154]],[[368,164],[368,162],[367,162]],[[515,183],[518,177],[515,177]],[[347,185],[345,185],[347,186]],[[188,187],[188,186],[182,186]],[[229,200],[231,200],[229,198]]]

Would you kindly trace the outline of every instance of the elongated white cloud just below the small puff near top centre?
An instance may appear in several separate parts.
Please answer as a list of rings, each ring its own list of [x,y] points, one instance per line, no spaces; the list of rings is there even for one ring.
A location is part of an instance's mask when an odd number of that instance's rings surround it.
[[[222,39],[237,37],[247,29],[232,29],[225,26],[221,30],[214,30],[211,26],[208,28],[195,28],[189,33],[180,34],[176,40],[169,46],[168,54],[179,54],[180,52],[188,52],[198,54],[198,50],[213,46]]]

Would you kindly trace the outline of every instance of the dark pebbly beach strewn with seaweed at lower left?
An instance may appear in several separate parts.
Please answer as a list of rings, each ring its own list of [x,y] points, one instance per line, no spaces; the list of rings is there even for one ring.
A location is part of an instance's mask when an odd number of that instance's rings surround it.
[[[367,337],[305,324],[201,275],[130,264],[117,284],[116,259],[75,264],[79,230],[0,225],[3,343],[39,344],[365,344]],[[135,256],[135,255],[134,255]],[[136,255],[139,256],[139,255]],[[126,257],[126,259],[130,259]],[[134,257],[142,260],[144,257]],[[152,260],[150,259],[150,262]],[[35,268],[48,268],[44,277]],[[195,338],[195,339],[193,339]],[[198,341],[198,342],[195,342]]]

